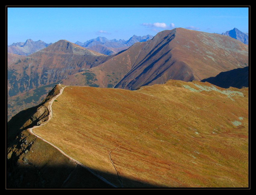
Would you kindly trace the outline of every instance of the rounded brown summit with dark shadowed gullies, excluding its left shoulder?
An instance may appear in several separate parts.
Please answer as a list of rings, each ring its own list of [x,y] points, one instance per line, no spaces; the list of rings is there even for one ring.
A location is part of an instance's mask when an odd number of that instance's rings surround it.
[[[115,88],[136,89],[168,79],[201,80],[247,65],[247,45],[228,36],[176,28],[147,41]]]

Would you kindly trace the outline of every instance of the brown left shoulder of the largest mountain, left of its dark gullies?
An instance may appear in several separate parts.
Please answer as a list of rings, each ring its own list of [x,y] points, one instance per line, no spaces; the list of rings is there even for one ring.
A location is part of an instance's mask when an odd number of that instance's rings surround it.
[[[136,43],[97,67],[70,75],[61,82],[64,85],[72,83],[78,86],[113,88],[131,70],[145,44]]]

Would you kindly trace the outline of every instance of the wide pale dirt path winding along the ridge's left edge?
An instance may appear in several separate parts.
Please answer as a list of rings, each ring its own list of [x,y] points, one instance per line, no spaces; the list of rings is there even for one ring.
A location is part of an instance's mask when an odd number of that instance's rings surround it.
[[[61,86],[61,85],[60,85],[60,86]],[[69,86],[65,86],[65,87],[69,87]],[[96,177],[98,177],[99,179],[101,179],[103,182],[105,182],[105,183],[107,183],[107,184],[109,184],[109,185],[111,185],[111,186],[113,186],[113,187],[117,187],[116,185],[114,185],[114,184],[112,184],[111,182],[109,182],[107,179],[105,179],[105,178],[103,178],[102,176],[100,176],[100,175],[98,175],[97,173],[95,173],[95,172],[94,172],[93,170],[91,170],[90,168],[86,167],[84,164],[80,163],[80,162],[77,161],[76,159],[74,159],[74,158],[70,157],[69,155],[67,155],[65,152],[63,152],[63,151],[62,151],[60,148],[58,148],[57,146],[53,145],[52,143],[48,142],[47,140],[45,140],[44,138],[40,137],[39,135],[36,135],[36,134],[33,132],[33,129],[34,129],[34,128],[38,128],[38,127],[40,127],[40,126],[42,126],[42,125],[45,125],[46,123],[48,123],[49,120],[52,119],[52,103],[53,103],[53,101],[54,101],[56,98],[58,98],[58,97],[62,94],[62,92],[63,92],[63,90],[64,90],[65,87],[62,87],[62,89],[60,90],[60,93],[59,93],[58,95],[54,96],[54,97],[49,101],[49,105],[48,105],[49,118],[48,118],[48,120],[47,120],[46,122],[41,123],[39,126],[33,126],[32,128],[29,128],[29,129],[28,129],[29,132],[30,132],[31,134],[33,134],[34,136],[38,137],[39,139],[43,140],[44,142],[50,144],[50,145],[53,146],[54,148],[56,148],[56,149],[57,149],[58,151],[60,151],[64,156],[66,156],[66,157],[69,158],[70,160],[74,161],[77,165],[80,165],[80,166],[86,168],[90,173],[92,173],[93,175],[95,175]]]

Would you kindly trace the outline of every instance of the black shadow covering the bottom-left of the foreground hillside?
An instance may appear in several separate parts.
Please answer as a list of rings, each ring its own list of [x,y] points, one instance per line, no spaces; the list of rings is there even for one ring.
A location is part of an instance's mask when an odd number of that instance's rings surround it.
[[[89,188],[104,189],[113,188],[110,184],[90,173],[81,166],[44,166],[36,167],[34,165],[12,166],[8,163],[7,170],[7,189],[27,189],[27,188]],[[96,170],[93,170],[96,172]],[[97,173],[105,179],[121,187],[116,175],[100,172]],[[140,182],[121,177],[124,188],[158,188],[161,186],[151,185],[146,182]]]

